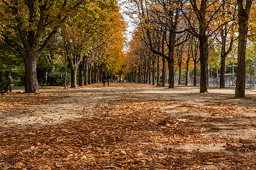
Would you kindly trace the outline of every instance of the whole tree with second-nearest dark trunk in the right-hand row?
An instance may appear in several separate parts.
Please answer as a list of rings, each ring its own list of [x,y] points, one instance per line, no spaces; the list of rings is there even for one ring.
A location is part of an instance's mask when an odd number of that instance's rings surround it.
[[[221,27],[216,27],[216,20],[221,14],[221,7],[226,1],[189,0],[184,3],[183,14],[187,18],[187,31],[199,39],[200,50],[200,92],[208,91],[208,39]],[[193,12],[193,13],[192,13]]]

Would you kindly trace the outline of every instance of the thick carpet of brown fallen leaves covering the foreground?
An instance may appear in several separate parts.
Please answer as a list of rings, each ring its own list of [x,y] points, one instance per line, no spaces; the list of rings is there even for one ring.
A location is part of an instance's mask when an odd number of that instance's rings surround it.
[[[177,103],[113,100],[106,105],[93,107],[97,113],[79,121],[47,126],[40,130],[2,131],[0,168],[6,170],[255,167],[253,139],[236,140],[216,135],[205,137],[206,133],[220,130],[216,125],[210,124],[211,116],[206,119],[193,115],[177,118],[164,109],[170,105]],[[182,105],[179,105],[179,108],[183,110],[189,111],[191,108],[187,104]],[[203,108],[200,111],[206,110]],[[225,117],[217,119],[222,122],[229,121]],[[195,124],[198,120],[204,124]],[[228,123],[230,124],[230,121]],[[232,125],[236,127],[236,124]],[[239,126],[255,128],[255,124]],[[226,152],[200,152],[193,147],[190,150],[179,148],[184,145],[222,145]]]

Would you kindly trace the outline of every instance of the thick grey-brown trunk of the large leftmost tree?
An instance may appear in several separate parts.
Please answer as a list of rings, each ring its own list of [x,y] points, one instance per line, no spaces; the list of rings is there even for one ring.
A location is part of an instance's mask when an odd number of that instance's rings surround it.
[[[36,76],[36,62],[38,57],[28,56],[25,62],[25,92],[39,94],[38,79]]]

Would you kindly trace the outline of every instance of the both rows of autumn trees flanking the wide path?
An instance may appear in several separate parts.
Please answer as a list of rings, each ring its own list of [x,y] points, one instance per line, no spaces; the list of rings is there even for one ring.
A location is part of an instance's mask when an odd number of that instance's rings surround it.
[[[39,92],[36,65],[43,52],[51,49],[58,56],[56,61],[61,56],[68,62],[71,87],[77,86],[77,74],[83,86],[112,73],[119,80],[125,74],[135,82],[155,85],[156,80],[161,86],[168,79],[168,87],[174,88],[175,78],[181,84],[181,70],[185,70],[186,85],[192,70],[193,85],[200,77],[200,92],[207,92],[212,66],[220,65],[220,88],[225,87],[226,58],[234,54],[235,43],[236,97],[245,95],[248,27],[250,49],[255,46],[252,0],[130,0],[127,5],[126,13],[137,28],[125,51],[126,24],[117,1],[1,1],[1,43],[23,58],[25,91]],[[55,63],[49,61],[54,54],[48,55],[49,63]]]

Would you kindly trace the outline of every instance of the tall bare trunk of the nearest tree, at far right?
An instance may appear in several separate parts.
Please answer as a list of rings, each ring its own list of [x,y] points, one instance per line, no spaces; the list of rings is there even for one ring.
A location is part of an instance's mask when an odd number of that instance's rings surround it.
[[[237,0],[238,3],[238,53],[237,53],[237,82],[235,97],[245,97],[245,55],[246,55],[246,41],[248,31],[248,19],[251,4],[253,1],[246,1],[246,6],[242,0]]]

